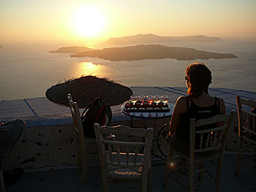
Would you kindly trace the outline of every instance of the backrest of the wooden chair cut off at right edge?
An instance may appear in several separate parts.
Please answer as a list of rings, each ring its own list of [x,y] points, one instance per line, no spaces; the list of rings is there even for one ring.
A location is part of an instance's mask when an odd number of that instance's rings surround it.
[[[256,114],[250,112],[252,108],[256,109],[256,101],[241,99],[240,96],[236,96],[236,104],[238,110],[239,137],[244,133],[244,131],[256,137]],[[246,124],[251,127],[248,128]]]

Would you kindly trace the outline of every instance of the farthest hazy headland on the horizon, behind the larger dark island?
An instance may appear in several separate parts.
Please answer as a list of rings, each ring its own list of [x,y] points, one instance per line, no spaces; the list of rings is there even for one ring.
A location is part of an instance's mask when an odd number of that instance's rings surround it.
[[[204,35],[194,35],[185,37],[162,37],[154,34],[137,34],[127,37],[111,37],[102,45],[121,45],[121,44],[150,44],[159,42],[219,42],[219,37],[206,37]]]

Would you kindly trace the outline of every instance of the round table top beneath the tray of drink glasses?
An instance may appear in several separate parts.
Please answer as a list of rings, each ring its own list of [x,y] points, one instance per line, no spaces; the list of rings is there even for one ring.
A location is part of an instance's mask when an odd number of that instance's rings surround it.
[[[174,104],[167,103],[170,111],[151,111],[151,110],[143,110],[143,111],[127,111],[124,110],[125,103],[121,106],[121,111],[124,112],[125,115],[129,115],[132,118],[143,118],[143,119],[154,119],[154,118],[167,118],[173,114]]]

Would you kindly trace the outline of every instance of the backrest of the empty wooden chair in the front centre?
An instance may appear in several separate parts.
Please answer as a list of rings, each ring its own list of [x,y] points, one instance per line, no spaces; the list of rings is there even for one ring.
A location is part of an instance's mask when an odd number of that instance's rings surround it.
[[[143,167],[142,177],[146,177],[151,166],[151,145],[153,128],[129,128],[127,126],[99,126],[94,124],[102,172],[108,167]],[[105,139],[105,135],[115,135],[116,139]],[[121,136],[140,137],[140,141],[122,141]],[[143,149],[143,150],[141,150]]]

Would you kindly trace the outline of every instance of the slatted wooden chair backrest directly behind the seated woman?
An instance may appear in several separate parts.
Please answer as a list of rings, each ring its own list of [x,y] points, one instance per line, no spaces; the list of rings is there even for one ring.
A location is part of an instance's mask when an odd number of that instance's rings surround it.
[[[190,153],[195,155],[197,152],[206,152],[220,150],[222,153],[225,149],[228,130],[232,123],[234,112],[225,115],[215,115],[212,118],[195,121],[195,118],[190,119]],[[202,129],[200,126],[211,125],[211,128]],[[195,145],[195,137],[199,139]]]

